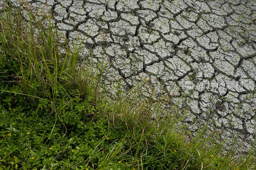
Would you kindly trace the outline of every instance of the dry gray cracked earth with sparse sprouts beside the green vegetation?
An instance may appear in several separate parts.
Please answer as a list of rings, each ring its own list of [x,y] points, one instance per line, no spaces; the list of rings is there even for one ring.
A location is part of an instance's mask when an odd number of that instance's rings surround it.
[[[187,110],[181,125],[193,135],[207,124],[226,148],[246,153],[255,138],[256,1],[32,0],[85,60],[107,65],[106,87],[128,91],[146,80],[144,96],[160,94]],[[4,1],[13,8],[24,5]],[[23,18],[28,12],[24,8]],[[36,28],[35,28],[36,30]],[[65,38],[60,43],[65,42]],[[63,47],[65,51],[65,47]],[[241,146],[242,145],[242,148]]]

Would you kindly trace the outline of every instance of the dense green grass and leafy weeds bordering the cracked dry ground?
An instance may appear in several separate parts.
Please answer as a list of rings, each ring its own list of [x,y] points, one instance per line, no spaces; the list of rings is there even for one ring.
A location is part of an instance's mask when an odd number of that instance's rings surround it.
[[[175,107],[163,117],[168,101],[141,99],[141,84],[107,96],[100,89],[103,62],[94,71],[77,69],[78,44],[61,55],[53,25],[19,14],[6,7],[0,17],[0,170],[255,168],[255,151],[240,159],[232,151],[221,155],[218,135],[200,138],[204,128],[188,139],[175,126]]]

